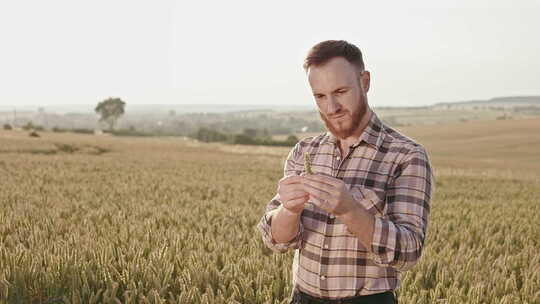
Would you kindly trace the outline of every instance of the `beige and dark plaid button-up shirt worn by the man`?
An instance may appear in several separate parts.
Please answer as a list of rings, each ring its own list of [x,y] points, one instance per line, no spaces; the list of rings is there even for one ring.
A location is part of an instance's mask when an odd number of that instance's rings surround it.
[[[276,252],[296,249],[294,287],[312,296],[338,299],[397,289],[399,273],[416,264],[426,237],[433,186],[426,151],[375,113],[348,155],[340,155],[330,133],[300,141],[285,162],[286,176],[304,172],[306,151],[315,174],[343,180],[358,204],[375,216],[373,243],[364,247],[345,224],[310,202],[298,235],[276,243],[268,214],[280,206],[279,195],[257,226],[264,243]]]

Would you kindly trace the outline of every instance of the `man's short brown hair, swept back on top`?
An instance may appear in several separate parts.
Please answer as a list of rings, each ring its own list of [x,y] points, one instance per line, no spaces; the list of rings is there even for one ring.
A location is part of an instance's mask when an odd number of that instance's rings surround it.
[[[309,50],[304,60],[304,70],[307,71],[310,66],[323,65],[334,57],[343,57],[360,71],[364,71],[362,52],[356,45],[345,40],[326,40],[317,43]]]

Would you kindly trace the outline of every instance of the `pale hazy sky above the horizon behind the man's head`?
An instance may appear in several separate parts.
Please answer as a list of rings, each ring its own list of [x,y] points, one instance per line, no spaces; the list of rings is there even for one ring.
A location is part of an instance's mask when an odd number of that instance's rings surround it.
[[[447,3],[448,2],[448,3]],[[0,106],[314,105],[311,46],[363,52],[372,106],[540,95],[540,0],[0,2]]]

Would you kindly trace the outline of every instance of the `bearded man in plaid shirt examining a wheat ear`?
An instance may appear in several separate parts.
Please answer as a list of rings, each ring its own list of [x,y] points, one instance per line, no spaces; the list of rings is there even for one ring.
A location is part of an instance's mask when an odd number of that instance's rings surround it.
[[[276,252],[296,249],[291,303],[397,303],[399,274],[420,258],[432,171],[424,148],[368,105],[360,50],[324,41],[304,69],[329,132],[301,140],[258,224]],[[306,174],[304,153],[314,174]]]

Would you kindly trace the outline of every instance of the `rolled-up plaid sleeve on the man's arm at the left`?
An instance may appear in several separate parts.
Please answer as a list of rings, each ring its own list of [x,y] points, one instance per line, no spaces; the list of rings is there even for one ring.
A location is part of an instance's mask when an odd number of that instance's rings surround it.
[[[287,157],[284,166],[284,176],[300,175],[302,171],[297,170],[297,163],[302,155],[300,152],[300,146],[297,144]],[[298,233],[296,236],[286,243],[277,243],[272,236],[272,215],[281,206],[279,195],[276,194],[274,198],[266,205],[266,210],[257,224],[257,229],[261,233],[264,244],[274,252],[284,253],[289,249],[298,249],[301,246],[302,234],[304,227],[302,222],[299,221]]]

